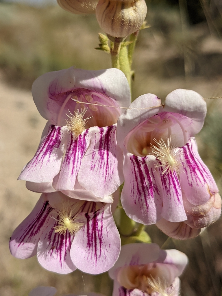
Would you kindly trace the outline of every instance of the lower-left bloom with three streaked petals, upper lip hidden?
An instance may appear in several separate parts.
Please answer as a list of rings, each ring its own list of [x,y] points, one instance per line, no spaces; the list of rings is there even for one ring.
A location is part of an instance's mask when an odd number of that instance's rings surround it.
[[[41,266],[61,274],[77,268],[90,274],[105,272],[117,260],[121,247],[111,205],[61,192],[42,194],[13,232],[10,252],[20,259],[37,255]]]

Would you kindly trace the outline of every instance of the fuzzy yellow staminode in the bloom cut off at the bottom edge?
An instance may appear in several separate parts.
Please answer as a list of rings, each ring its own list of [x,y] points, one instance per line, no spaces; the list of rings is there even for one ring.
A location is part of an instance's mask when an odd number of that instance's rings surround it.
[[[178,295],[174,284],[171,285],[170,292],[167,292],[168,287],[167,287],[167,284],[165,281],[161,281],[160,279],[158,279],[158,281],[156,281],[153,277],[151,277],[151,278],[148,277],[147,282],[149,284],[149,287],[152,289],[152,292],[157,292],[161,296],[176,296],[176,295]]]

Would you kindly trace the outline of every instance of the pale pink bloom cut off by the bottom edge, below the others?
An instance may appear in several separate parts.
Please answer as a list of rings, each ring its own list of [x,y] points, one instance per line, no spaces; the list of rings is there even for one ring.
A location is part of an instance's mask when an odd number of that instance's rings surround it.
[[[157,244],[126,244],[109,275],[112,296],[177,296],[180,276],[188,262],[178,250],[160,250]]]

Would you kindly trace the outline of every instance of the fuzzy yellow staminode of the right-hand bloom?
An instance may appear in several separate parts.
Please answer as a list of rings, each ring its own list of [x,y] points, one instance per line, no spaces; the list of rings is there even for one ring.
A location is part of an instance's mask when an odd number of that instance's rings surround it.
[[[157,160],[161,162],[161,164],[155,165],[157,167],[165,167],[162,171],[162,176],[165,173],[173,173],[176,170],[179,173],[179,168],[181,166],[181,161],[178,161],[178,152],[176,151],[176,147],[170,145],[170,138],[165,142],[162,138],[160,141],[154,139],[156,146],[152,145],[152,154],[155,155]]]

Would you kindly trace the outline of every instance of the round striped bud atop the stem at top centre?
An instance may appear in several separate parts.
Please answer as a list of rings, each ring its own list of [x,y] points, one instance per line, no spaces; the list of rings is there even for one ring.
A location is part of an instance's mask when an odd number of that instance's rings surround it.
[[[144,0],[99,0],[96,18],[105,33],[126,37],[138,31],[147,15]]]

